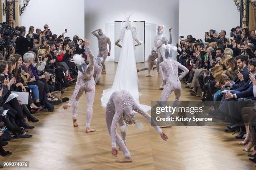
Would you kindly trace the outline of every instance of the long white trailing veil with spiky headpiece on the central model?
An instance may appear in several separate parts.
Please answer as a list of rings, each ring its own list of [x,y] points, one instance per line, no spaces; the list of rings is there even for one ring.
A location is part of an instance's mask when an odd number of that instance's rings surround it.
[[[122,41],[123,45],[120,51],[113,85],[110,89],[103,90],[100,100],[102,107],[106,107],[114,91],[126,90],[133,96],[136,103],[147,112],[151,107],[139,104],[140,94],[138,91],[138,75],[133,44],[134,37],[136,36],[136,28],[131,27],[130,17],[131,15],[128,16],[125,14],[125,27],[120,32],[119,40]]]

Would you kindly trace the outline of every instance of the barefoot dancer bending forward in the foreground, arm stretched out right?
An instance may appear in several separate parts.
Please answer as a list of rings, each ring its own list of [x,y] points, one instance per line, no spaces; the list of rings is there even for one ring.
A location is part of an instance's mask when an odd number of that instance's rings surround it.
[[[133,113],[133,110],[146,117],[149,123],[155,125],[154,128],[161,135],[161,138],[163,140],[168,139],[166,134],[162,132],[159,126],[156,126],[156,122],[151,122],[151,116],[147,112],[144,112],[140,107],[138,107],[138,105],[133,99],[133,96],[131,96],[131,94],[129,94],[128,91],[115,91],[110,96],[110,99],[108,101],[105,117],[108,132],[110,134],[112,142],[112,155],[115,157],[117,156],[118,149],[116,147],[116,144],[118,144],[120,150],[122,150],[125,156],[123,159],[116,160],[116,162],[132,162],[130,152],[125,146],[126,132],[124,126],[133,123],[136,124],[135,114]],[[117,133],[117,124],[119,124],[119,127],[121,129],[122,137],[120,137]]]

